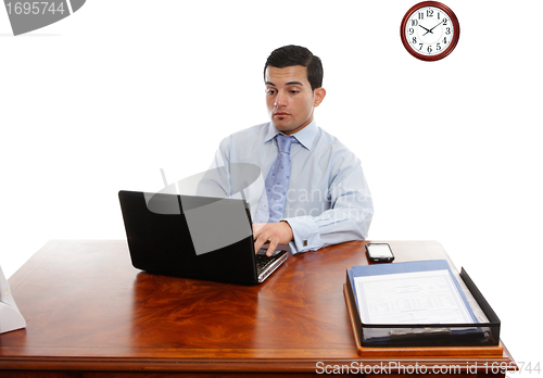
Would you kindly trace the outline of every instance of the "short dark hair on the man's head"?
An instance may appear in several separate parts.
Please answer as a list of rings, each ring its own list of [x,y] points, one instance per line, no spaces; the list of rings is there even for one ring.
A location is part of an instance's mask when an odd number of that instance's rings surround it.
[[[289,45],[274,50],[264,66],[264,80],[268,65],[276,68],[302,65],[307,68],[307,80],[311,84],[311,89],[315,90],[323,86],[323,63],[318,56],[304,47]]]

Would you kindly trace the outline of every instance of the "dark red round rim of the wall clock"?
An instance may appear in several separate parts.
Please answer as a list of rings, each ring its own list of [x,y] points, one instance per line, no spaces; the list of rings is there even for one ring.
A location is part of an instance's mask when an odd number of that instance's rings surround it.
[[[454,28],[454,36],[453,40],[449,45],[449,48],[445,49],[445,51],[437,53],[434,55],[425,55],[416,52],[413,50],[409,46],[409,42],[407,41],[407,38],[405,37],[405,26],[407,24],[407,21],[409,20],[411,15],[415,13],[417,10],[426,7],[434,7],[441,9],[443,12],[449,14],[449,17],[451,18],[451,22],[453,23],[453,28]],[[416,59],[419,59],[421,61],[426,62],[434,62],[439,61],[445,56],[447,56],[453,50],[456,48],[456,45],[458,43],[458,39],[460,38],[460,24],[458,23],[458,18],[456,17],[456,14],[454,14],[453,10],[445,4],[438,2],[438,1],[422,1],[419,2],[418,4],[413,5],[407,13],[405,13],[402,24],[400,25],[400,37],[402,38],[402,43],[405,47],[405,50],[407,50],[408,53],[411,53],[413,56]]]

